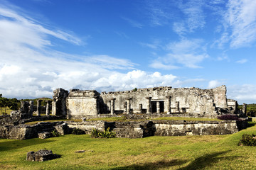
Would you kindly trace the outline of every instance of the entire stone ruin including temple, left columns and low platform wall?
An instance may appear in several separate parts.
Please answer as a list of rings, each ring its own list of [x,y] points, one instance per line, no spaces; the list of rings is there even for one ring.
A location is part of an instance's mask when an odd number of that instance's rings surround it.
[[[50,114],[52,106],[52,114]],[[42,116],[43,112],[46,116]],[[46,108],[38,100],[22,101],[21,108],[11,116],[0,119],[0,137],[29,139],[51,137],[53,130],[60,135],[69,134],[79,128],[90,134],[93,129],[110,128],[117,137],[149,137],[180,135],[225,135],[247,127],[247,120],[157,120],[154,118],[180,116],[192,118],[217,118],[222,114],[246,113],[244,104],[238,110],[238,102],[226,98],[226,87],[215,89],[178,88],[169,86],[132,91],[102,92],[56,89],[53,101],[46,101]],[[36,115],[36,116],[35,116]],[[97,117],[124,117],[127,121],[108,122],[87,120]],[[68,118],[69,121],[58,121]],[[82,119],[75,122],[72,119]],[[25,123],[38,121],[36,125]],[[43,120],[57,120],[40,122]]]

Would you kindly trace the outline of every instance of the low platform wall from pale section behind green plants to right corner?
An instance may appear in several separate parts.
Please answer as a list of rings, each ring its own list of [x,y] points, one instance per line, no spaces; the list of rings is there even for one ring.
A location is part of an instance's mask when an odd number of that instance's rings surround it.
[[[246,121],[185,121],[185,120],[151,120],[131,122],[85,121],[67,123],[70,128],[80,128],[88,134],[93,128],[105,130],[110,127],[117,137],[140,138],[148,136],[182,136],[182,135],[227,135],[245,128]]]

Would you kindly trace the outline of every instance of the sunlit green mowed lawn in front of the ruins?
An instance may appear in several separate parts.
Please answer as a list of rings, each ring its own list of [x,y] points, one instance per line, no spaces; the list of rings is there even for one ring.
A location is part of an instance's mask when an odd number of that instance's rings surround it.
[[[0,140],[0,169],[256,169],[256,147],[238,146],[233,135],[94,139],[63,135],[49,139]],[[28,162],[26,153],[51,149],[60,158]],[[82,153],[75,153],[85,150]]]

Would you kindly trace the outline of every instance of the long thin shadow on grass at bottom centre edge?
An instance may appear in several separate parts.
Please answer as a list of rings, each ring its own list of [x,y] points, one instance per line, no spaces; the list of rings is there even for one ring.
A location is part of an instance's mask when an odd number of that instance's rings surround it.
[[[119,170],[119,169],[163,169],[163,168],[171,168],[171,166],[176,166],[176,165],[181,165],[185,164],[186,161],[183,160],[178,160],[178,159],[173,159],[171,161],[160,161],[160,162],[150,162],[146,164],[133,164],[129,166],[122,166],[122,167],[117,167],[112,170]]]

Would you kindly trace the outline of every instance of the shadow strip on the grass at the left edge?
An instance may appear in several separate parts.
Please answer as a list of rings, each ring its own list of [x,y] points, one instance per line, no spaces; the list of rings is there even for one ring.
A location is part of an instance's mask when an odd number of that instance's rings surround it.
[[[4,140],[4,139],[1,139]],[[1,142],[0,140],[0,152],[9,151],[12,149],[19,149],[22,147],[28,147],[32,145],[39,145],[43,143],[53,142],[51,140],[41,140],[38,138],[30,139],[30,140],[11,140],[6,142]]]

